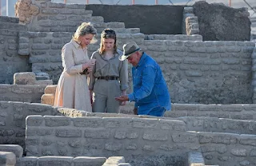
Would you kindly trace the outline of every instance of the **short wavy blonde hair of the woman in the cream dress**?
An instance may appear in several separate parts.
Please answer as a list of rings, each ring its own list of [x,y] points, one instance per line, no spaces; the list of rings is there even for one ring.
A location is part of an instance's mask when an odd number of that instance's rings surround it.
[[[74,41],[77,41],[78,43],[80,43],[79,37],[84,36],[86,34],[94,35],[94,38],[92,41],[90,41],[90,43],[95,43],[97,41],[95,39],[97,30],[94,28],[94,26],[90,22],[82,22],[82,24],[80,26],[78,26],[78,29],[75,31],[72,38]]]

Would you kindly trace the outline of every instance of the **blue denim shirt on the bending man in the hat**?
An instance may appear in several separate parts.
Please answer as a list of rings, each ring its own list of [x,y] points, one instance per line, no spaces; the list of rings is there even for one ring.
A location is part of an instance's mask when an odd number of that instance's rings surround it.
[[[128,95],[135,101],[139,115],[146,115],[151,109],[162,106],[170,110],[170,94],[162,70],[154,59],[142,54],[137,66],[132,68],[134,93]]]

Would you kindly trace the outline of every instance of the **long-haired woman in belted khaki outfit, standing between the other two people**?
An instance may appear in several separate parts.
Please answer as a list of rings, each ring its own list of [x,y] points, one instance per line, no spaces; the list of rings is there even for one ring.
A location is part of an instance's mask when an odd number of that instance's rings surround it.
[[[114,99],[126,94],[128,88],[128,61],[119,61],[122,51],[116,42],[114,30],[103,30],[100,48],[91,57],[96,59],[89,81],[91,97],[94,93],[94,113],[119,113],[120,105],[126,104]]]

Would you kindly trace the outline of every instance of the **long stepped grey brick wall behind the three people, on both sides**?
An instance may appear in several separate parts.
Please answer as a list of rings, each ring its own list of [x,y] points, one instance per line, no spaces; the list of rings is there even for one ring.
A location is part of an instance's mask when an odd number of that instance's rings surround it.
[[[33,4],[39,6],[40,10],[27,26],[30,31],[42,32],[21,32],[18,51],[25,56],[30,54],[32,71],[49,73],[54,84],[57,84],[62,73],[62,46],[70,41],[78,24],[91,21],[99,30],[98,33],[106,27],[117,30],[119,49],[126,42],[136,41],[146,53],[154,57],[161,65],[172,102],[253,103],[253,42],[198,41],[202,38],[193,37],[186,40],[197,41],[184,41],[182,36],[181,41],[171,41],[171,36],[163,38],[156,35],[145,38],[138,29],[126,29],[123,22],[106,23],[100,16],[91,17],[92,11],[86,10],[85,5],[52,3],[46,0],[33,1]],[[179,39],[175,37],[174,40]],[[98,44],[99,41],[90,45],[89,56],[98,49]],[[131,91],[131,78],[128,91]]]

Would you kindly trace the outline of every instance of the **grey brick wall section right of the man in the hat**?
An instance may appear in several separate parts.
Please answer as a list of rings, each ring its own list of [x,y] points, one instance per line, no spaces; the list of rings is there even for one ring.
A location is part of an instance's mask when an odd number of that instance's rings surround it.
[[[144,41],[174,103],[252,103],[253,42]]]

